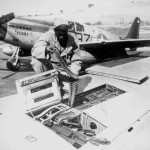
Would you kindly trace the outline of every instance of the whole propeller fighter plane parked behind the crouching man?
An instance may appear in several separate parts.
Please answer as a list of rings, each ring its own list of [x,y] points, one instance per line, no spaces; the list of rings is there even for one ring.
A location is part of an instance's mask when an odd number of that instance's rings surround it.
[[[56,19],[56,18],[55,18]],[[67,20],[69,33],[77,40],[83,63],[126,56],[126,48],[136,50],[137,47],[150,46],[150,40],[139,39],[140,19],[135,18],[126,37],[121,38],[102,29],[93,28],[75,21]],[[4,47],[3,52],[11,56],[7,68],[17,71],[20,68],[19,56],[31,55],[31,48],[42,33],[51,30],[52,21],[39,20],[31,17],[15,17],[13,13],[0,18],[0,40],[11,44]],[[13,46],[12,46],[13,45]]]

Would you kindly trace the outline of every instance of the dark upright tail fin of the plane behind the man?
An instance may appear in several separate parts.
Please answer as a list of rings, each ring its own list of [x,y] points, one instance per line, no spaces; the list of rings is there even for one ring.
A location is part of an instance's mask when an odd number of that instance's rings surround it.
[[[140,18],[136,17],[131,25],[131,28],[126,36],[128,39],[138,39],[140,30]]]

